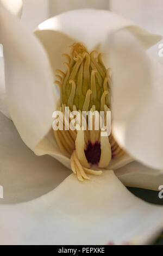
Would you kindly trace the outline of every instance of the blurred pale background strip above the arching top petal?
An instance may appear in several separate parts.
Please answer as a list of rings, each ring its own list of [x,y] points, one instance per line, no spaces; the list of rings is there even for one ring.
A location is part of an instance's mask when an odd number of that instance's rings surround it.
[[[150,32],[163,34],[162,0],[23,0],[23,6],[22,22],[30,30],[66,10],[96,8],[114,11]]]

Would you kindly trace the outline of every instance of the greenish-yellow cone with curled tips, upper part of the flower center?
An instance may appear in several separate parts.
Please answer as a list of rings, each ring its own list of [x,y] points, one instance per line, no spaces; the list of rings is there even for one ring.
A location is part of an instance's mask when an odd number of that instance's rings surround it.
[[[102,54],[89,53],[82,44],[71,46],[66,73],[56,70],[57,83],[60,87],[60,101],[66,106],[77,110],[88,111],[95,105],[97,111],[103,111],[104,105],[110,106],[110,69],[102,62]],[[60,76],[61,75],[61,76]]]

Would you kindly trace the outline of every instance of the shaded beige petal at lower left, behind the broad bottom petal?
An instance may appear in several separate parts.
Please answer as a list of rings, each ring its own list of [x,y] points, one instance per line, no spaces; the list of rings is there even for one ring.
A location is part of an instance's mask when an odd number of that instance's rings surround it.
[[[7,117],[0,113],[0,204],[20,203],[52,191],[71,171],[50,156],[36,156],[22,141]]]

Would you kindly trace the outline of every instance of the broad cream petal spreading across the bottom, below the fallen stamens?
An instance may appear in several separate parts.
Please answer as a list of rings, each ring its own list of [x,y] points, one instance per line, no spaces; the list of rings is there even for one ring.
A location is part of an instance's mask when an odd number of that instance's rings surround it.
[[[72,174],[45,196],[0,211],[3,245],[145,244],[163,221],[162,207],[133,196],[112,171],[85,182]]]

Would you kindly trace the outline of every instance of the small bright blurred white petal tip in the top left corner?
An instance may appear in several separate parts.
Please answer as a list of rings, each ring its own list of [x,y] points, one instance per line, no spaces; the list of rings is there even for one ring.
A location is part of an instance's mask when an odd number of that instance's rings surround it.
[[[17,17],[21,17],[22,9],[23,9],[23,2],[22,0],[0,0],[0,4],[3,4],[5,8],[11,11],[12,14],[16,15]]]

